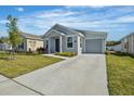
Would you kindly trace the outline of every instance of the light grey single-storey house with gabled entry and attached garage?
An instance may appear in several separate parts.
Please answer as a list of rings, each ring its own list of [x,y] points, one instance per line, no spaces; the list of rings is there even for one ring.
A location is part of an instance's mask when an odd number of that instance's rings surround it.
[[[55,24],[44,36],[44,48],[49,53],[77,52],[104,53],[107,33],[69,28]]]

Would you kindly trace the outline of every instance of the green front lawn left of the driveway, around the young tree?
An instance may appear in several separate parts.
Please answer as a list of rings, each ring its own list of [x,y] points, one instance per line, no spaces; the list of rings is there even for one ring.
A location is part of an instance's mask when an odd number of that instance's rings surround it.
[[[17,54],[16,60],[8,60],[8,58],[9,54],[0,53],[0,74],[10,78],[62,61],[62,59],[44,55]]]

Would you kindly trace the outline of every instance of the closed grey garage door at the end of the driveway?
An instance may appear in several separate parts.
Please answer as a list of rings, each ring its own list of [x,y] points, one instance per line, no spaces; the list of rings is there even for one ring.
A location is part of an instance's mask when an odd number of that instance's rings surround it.
[[[103,48],[102,39],[86,39],[85,52],[86,53],[102,53]]]

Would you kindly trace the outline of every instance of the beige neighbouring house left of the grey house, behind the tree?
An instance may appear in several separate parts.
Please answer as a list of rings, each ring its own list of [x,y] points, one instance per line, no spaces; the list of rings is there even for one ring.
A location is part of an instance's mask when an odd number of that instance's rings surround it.
[[[37,51],[43,48],[43,39],[40,36],[21,33],[23,42],[18,46],[19,51]]]

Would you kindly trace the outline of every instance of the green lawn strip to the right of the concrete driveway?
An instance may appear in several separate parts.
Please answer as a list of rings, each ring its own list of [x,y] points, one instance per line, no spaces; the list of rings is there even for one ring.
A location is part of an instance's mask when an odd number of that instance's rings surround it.
[[[109,54],[108,88],[112,96],[134,96],[134,58]]]

